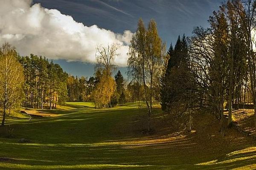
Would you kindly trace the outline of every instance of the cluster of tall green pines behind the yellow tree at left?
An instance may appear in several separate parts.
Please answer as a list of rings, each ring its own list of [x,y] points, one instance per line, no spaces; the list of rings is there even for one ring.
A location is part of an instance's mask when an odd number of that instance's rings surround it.
[[[58,64],[49,62],[45,57],[31,54],[19,57],[24,68],[23,106],[31,108],[56,108],[67,101],[67,78]]]

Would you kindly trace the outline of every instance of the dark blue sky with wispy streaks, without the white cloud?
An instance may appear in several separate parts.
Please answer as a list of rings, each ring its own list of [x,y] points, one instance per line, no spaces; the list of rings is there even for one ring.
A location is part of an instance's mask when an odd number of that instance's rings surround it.
[[[85,26],[122,34],[125,30],[136,31],[140,17],[145,23],[151,18],[157,22],[160,37],[175,43],[178,35],[190,36],[195,26],[207,27],[212,11],[218,10],[223,0],[34,0],[49,9],[58,9]],[[79,77],[92,76],[94,65],[83,62],[55,60],[67,73]],[[126,68],[120,68],[125,74]]]

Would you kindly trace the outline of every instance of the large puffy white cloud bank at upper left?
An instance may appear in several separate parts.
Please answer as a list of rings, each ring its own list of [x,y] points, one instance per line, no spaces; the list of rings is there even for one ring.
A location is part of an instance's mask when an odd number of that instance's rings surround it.
[[[128,30],[115,34],[96,25],[84,26],[56,9],[32,5],[32,0],[0,1],[0,43],[9,42],[20,55],[95,63],[98,45],[118,43],[115,64],[126,66],[131,37]]]

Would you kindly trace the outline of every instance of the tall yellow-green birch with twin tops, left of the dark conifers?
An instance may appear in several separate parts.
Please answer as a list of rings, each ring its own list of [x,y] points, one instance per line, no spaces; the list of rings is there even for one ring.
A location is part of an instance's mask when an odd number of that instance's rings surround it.
[[[148,131],[151,130],[152,103],[160,84],[164,52],[165,45],[157,33],[155,21],[151,20],[148,28],[145,28],[140,18],[129,48],[128,71],[132,79],[137,80],[138,84],[143,84],[145,103],[148,108]]]

